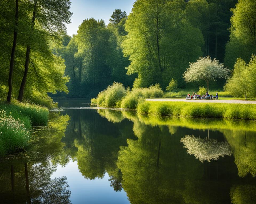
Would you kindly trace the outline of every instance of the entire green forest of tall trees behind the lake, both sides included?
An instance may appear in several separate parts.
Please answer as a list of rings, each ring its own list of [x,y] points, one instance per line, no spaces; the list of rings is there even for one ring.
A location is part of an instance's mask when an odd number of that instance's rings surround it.
[[[186,83],[183,73],[199,57],[230,70],[238,58],[245,65],[255,61],[252,0],[138,0],[130,14],[114,10],[108,25],[85,19],[73,36],[65,28],[70,5],[1,1],[1,100],[8,95],[51,106],[48,94],[91,98],[113,82],[125,88],[160,84],[165,91],[173,79],[178,89],[198,88],[205,82]],[[222,90],[226,80],[210,84]]]

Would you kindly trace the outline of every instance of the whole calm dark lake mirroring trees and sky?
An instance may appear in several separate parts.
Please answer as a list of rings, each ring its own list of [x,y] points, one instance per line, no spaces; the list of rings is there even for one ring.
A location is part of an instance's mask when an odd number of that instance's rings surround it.
[[[54,99],[1,159],[1,203],[256,203],[256,122],[137,116]]]

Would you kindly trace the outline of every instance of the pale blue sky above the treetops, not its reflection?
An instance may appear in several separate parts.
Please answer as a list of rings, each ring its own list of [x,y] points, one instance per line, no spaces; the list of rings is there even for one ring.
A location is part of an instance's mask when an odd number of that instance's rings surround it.
[[[103,19],[107,25],[115,9],[121,9],[129,14],[134,2],[135,0],[73,0],[70,7],[73,12],[72,23],[67,25],[67,34],[76,34],[83,20],[91,17],[96,20]]]

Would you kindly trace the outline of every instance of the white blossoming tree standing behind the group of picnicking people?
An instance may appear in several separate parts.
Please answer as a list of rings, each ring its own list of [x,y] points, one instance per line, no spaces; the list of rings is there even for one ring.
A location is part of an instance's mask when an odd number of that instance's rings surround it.
[[[219,63],[219,60],[211,60],[210,56],[200,57],[196,62],[189,63],[189,67],[183,74],[186,82],[199,81],[203,79],[207,82],[209,93],[209,81],[216,81],[218,78],[226,78],[230,70]]]

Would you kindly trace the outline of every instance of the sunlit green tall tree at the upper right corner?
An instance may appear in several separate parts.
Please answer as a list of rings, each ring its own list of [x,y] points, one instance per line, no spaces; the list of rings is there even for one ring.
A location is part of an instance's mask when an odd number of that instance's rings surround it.
[[[231,11],[231,34],[225,53],[225,63],[229,67],[233,67],[239,57],[247,63],[251,55],[256,54],[256,2],[239,0]]]

